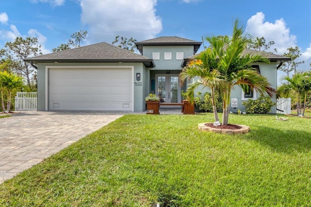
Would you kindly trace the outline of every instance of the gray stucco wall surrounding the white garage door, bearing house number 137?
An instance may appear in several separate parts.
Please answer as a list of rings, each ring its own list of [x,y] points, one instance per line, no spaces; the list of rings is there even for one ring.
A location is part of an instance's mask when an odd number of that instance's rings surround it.
[[[142,63],[39,63],[37,70],[37,110],[45,111],[46,97],[46,66],[134,66],[134,111],[145,110],[146,88],[149,88],[148,70]],[[117,68],[116,68],[117,69]],[[140,81],[136,79],[137,73],[140,73]],[[47,90],[49,91],[49,90]],[[49,108],[48,108],[49,110]]]

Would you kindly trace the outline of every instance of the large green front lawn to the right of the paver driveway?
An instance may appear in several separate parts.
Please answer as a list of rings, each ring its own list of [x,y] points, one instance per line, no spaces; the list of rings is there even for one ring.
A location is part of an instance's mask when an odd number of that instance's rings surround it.
[[[0,206],[310,206],[310,119],[126,115],[0,185]]]

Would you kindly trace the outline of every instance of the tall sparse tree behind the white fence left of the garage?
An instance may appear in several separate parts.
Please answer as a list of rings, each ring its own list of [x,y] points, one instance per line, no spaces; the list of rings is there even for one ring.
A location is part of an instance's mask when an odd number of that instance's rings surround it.
[[[13,68],[18,75],[24,76],[27,85],[31,88],[31,75],[36,68],[32,67],[30,63],[26,63],[23,59],[41,55],[41,45],[38,44],[36,37],[17,37],[14,42],[7,42],[5,47],[12,53],[11,68]]]

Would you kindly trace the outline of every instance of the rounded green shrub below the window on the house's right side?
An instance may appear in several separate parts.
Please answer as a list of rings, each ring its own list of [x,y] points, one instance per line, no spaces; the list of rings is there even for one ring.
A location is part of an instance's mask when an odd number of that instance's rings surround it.
[[[272,106],[276,105],[269,96],[260,96],[257,100],[249,99],[242,104],[246,107],[245,112],[248,114],[266,114],[271,111]]]

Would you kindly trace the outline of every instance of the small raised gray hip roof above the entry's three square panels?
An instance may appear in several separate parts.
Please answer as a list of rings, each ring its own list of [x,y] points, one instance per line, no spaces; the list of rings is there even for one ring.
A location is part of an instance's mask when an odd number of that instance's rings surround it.
[[[202,42],[197,42],[190,39],[185,39],[178,36],[161,36],[153,39],[148,39],[140,42],[136,42],[135,45],[140,53],[142,53],[143,46],[194,46],[193,54],[195,54]]]

